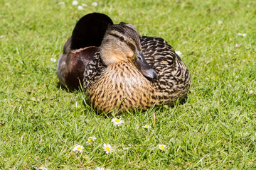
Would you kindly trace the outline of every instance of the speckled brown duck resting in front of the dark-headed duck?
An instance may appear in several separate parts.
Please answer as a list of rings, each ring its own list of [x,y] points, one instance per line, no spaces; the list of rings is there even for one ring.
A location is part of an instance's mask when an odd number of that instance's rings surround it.
[[[89,57],[87,49],[71,53],[87,60],[83,87],[97,111],[146,110],[163,102],[172,106],[188,93],[188,68],[171,45],[162,38],[141,37],[129,23],[110,22],[96,52]]]

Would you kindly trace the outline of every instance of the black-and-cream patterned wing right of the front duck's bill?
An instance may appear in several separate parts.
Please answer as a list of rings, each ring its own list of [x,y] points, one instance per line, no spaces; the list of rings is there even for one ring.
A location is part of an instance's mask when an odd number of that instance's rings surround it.
[[[146,37],[141,38],[142,54],[149,66],[157,73],[154,84],[161,96],[159,98],[170,98],[174,101],[176,96],[185,96],[191,77],[188,68],[163,38]],[[168,103],[168,101],[167,101]]]

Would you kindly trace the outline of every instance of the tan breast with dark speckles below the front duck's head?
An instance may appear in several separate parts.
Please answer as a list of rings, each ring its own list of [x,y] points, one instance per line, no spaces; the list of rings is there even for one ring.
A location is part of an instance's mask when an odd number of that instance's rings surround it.
[[[130,62],[108,65],[100,79],[87,89],[87,94],[92,106],[105,112],[114,108],[121,111],[133,108],[144,110],[156,102],[156,97],[152,95],[155,94],[154,84]]]

